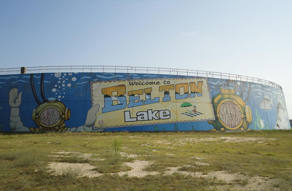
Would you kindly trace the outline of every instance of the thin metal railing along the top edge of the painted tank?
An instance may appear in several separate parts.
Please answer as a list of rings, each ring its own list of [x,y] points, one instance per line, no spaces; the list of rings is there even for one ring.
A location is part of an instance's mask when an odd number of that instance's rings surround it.
[[[229,74],[222,72],[210,72],[204,70],[187,70],[178,68],[160,68],[160,67],[131,67],[131,66],[38,66],[26,67],[26,73],[48,73],[48,72],[127,72],[127,73],[147,73],[147,74],[170,74],[183,76],[196,76],[206,78],[220,78],[228,80],[239,80],[246,82],[260,83],[272,86],[282,90],[282,87],[277,83],[254,78],[250,76],[243,76],[238,74]],[[0,75],[20,74],[21,68],[0,68]]]

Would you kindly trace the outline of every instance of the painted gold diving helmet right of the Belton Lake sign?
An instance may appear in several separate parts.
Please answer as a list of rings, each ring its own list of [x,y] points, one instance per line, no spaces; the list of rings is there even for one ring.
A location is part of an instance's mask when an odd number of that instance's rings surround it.
[[[251,109],[235,94],[232,87],[221,87],[213,99],[215,120],[208,121],[214,130],[248,130],[252,122]]]

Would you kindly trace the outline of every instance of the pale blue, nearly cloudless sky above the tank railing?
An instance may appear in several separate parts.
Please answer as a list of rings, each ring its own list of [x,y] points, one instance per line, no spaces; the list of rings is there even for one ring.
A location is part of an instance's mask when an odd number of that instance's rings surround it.
[[[0,68],[170,67],[263,78],[292,118],[292,1],[0,1]]]

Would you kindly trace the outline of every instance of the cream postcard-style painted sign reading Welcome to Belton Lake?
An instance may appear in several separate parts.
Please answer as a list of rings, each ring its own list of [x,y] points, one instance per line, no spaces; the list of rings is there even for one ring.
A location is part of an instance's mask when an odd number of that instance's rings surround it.
[[[215,120],[206,78],[156,78],[91,82],[97,128]]]

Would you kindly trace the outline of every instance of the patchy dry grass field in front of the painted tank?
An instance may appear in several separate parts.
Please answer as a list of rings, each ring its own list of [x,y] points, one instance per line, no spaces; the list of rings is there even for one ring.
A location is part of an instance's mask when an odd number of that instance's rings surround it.
[[[0,190],[292,190],[292,130],[0,134]]]

